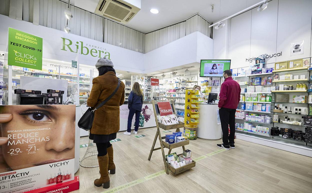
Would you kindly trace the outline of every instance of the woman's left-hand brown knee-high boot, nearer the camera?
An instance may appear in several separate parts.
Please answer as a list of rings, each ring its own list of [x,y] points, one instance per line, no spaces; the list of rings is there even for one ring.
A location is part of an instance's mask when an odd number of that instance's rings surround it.
[[[103,184],[103,188],[110,188],[110,177],[108,176],[108,154],[104,156],[98,156],[100,166],[100,179],[94,180],[94,185],[100,187]]]

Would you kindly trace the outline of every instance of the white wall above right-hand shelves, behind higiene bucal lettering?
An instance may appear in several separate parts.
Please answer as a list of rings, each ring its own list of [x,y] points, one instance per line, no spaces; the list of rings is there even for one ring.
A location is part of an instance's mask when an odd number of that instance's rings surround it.
[[[261,54],[281,56],[266,58],[266,63],[275,63],[311,55],[312,1],[272,0],[266,10],[254,8],[231,19],[230,25],[213,30],[214,59],[223,59],[229,49],[231,68],[249,66],[246,58]],[[230,26],[230,29],[227,29]],[[230,41],[227,43],[227,33]],[[304,40],[304,54],[290,56],[290,43]],[[254,63],[254,61],[252,62]]]

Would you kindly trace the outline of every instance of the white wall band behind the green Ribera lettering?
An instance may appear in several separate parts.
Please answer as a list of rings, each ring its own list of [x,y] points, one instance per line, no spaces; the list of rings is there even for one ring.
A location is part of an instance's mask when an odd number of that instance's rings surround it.
[[[84,43],[84,46],[87,46],[89,50],[92,49],[92,46],[96,46],[97,49],[100,49],[104,52],[109,52],[110,59],[114,63],[115,69],[136,73],[144,72],[143,53],[81,37],[75,34],[67,34],[64,31],[60,31],[57,29],[47,28],[41,25],[34,25],[29,22],[12,19],[4,15],[0,15],[0,21],[0,51],[7,51],[8,28],[11,27],[43,38],[43,58],[61,60],[66,62],[71,62],[71,60],[75,60],[77,53],[69,51],[67,47],[67,51],[61,50],[63,47],[62,38],[66,38],[72,41],[73,48],[75,48],[74,44],[77,41],[82,41]],[[87,44],[90,46],[88,46]],[[88,55],[82,55],[78,53],[78,56],[79,63],[90,66],[95,66],[96,61],[99,59],[98,57],[91,56],[90,53]]]

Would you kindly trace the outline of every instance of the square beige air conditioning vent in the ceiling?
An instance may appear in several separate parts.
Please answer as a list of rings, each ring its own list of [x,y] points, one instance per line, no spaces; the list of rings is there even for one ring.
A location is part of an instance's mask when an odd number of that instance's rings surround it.
[[[121,23],[128,23],[139,10],[140,8],[123,0],[100,0],[95,13]]]

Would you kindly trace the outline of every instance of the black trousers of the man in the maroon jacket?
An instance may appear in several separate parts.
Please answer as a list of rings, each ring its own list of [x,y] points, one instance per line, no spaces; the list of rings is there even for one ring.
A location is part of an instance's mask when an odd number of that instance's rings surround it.
[[[221,128],[222,128],[222,141],[224,145],[234,144],[235,137],[235,112],[236,109],[219,109]],[[230,135],[229,135],[229,125],[230,125]]]

